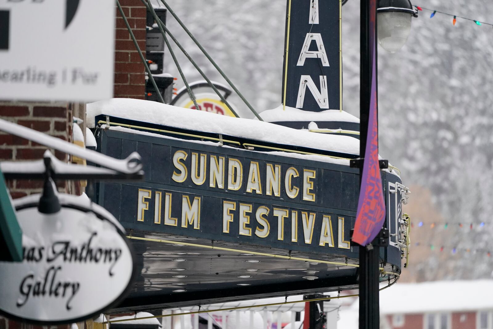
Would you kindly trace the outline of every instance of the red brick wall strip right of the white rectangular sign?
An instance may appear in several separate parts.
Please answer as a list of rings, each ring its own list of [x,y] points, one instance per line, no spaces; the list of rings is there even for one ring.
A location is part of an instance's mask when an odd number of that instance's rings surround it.
[[[145,56],[146,8],[141,0],[120,0],[120,5]],[[116,8],[115,86],[113,97],[144,99],[145,68],[120,11]]]

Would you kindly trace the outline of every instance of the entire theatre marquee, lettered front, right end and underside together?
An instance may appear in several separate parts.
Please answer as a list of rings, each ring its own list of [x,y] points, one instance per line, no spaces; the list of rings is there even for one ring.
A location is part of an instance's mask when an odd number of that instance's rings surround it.
[[[104,117],[96,117],[96,122]],[[109,120],[112,126],[145,126],[116,117]],[[173,129],[159,128],[152,125],[151,131]],[[190,136],[195,135],[180,136],[193,139]],[[146,174],[141,182],[101,182],[97,187],[98,204],[120,221],[127,234],[144,239],[132,240],[140,251],[140,284],[114,312],[245,295],[250,299],[279,296],[292,294],[293,287],[297,293],[357,288],[357,268],[344,264],[358,261],[358,248],[350,244],[358,170],[300,154],[220,146],[198,138],[113,129],[98,129],[96,137],[98,150],[115,158],[137,150]],[[401,213],[397,208],[401,191],[395,186],[401,181],[388,172],[382,172],[382,177],[389,203],[386,225],[395,234],[400,225],[396,216]],[[401,250],[397,237],[392,242],[382,248],[381,258],[388,271],[397,271]],[[198,247],[211,244],[231,250]],[[249,251],[335,263],[264,260]],[[238,291],[247,286],[255,289]]]

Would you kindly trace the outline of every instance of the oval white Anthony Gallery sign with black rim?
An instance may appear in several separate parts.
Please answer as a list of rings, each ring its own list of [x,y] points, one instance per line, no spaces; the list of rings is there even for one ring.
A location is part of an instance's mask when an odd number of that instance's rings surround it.
[[[0,262],[0,311],[38,324],[73,323],[120,299],[133,277],[133,256],[116,219],[87,199],[61,202],[56,214],[38,212],[39,196],[24,199],[34,202],[15,201],[23,261]]]

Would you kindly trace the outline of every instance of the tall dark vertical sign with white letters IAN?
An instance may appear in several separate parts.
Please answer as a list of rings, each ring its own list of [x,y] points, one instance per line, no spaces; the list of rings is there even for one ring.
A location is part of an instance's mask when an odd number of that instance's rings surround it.
[[[287,2],[282,103],[306,111],[340,110],[341,2]]]

